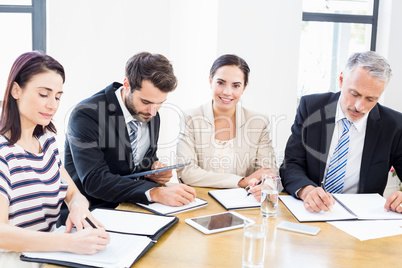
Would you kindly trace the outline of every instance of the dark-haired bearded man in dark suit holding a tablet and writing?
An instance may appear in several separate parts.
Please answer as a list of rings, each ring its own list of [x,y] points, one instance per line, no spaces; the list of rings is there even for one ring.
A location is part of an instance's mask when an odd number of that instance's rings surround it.
[[[66,134],[65,167],[91,208],[121,202],[181,206],[195,190],[184,184],[160,187],[171,171],[139,179],[123,177],[164,166],[156,156],[158,110],[177,86],[163,55],[138,53],[126,64],[123,84],[112,83],[73,110]]]

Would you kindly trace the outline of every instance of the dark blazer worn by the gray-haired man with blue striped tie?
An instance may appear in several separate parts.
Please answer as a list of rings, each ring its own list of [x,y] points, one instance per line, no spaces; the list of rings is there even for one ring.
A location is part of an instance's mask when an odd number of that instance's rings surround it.
[[[319,186],[324,178],[340,93],[304,96],[300,100],[280,175],[285,190]],[[393,166],[402,178],[402,114],[376,104],[367,119],[359,193],[383,194]]]

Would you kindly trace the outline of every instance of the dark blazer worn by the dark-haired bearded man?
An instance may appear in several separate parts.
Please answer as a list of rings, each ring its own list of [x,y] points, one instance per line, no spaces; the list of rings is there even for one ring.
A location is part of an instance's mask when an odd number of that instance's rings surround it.
[[[144,159],[134,167],[132,149],[123,111],[113,83],[80,102],[68,123],[65,143],[65,167],[91,208],[116,207],[121,202],[148,204],[145,192],[158,184],[144,178],[123,178],[149,170],[157,160],[159,114],[148,123],[151,145]]]

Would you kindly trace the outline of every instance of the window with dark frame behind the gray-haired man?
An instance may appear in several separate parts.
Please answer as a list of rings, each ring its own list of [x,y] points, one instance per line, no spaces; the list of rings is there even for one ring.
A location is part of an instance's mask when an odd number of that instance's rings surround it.
[[[298,99],[335,92],[354,52],[375,51],[379,0],[303,0]]]

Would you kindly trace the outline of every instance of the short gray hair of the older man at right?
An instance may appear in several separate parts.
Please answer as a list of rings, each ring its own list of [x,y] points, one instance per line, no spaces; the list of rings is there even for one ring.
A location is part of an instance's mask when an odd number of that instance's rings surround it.
[[[350,56],[343,71],[344,77],[348,76],[356,67],[362,67],[371,76],[385,81],[385,83],[388,83],[392,76],[388,61],[373,51],[358,52]]]

